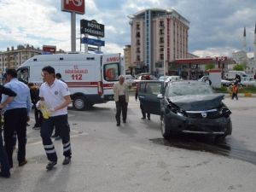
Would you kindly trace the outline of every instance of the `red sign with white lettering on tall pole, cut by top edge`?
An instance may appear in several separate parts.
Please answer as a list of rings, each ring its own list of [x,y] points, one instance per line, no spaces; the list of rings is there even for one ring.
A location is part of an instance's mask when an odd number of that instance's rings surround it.
[[[61,10],[67,12],[75,12],[77,14],[84,15],[84,0],[61,0]]]

